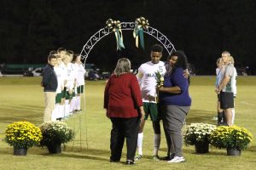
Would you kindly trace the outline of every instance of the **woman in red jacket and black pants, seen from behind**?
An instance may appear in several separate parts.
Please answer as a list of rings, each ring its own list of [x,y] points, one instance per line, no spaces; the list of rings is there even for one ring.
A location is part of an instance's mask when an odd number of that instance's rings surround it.
[[[143,100],[137,77],[131,72],[129,59],[119,59],[104,93],[106,116],[111,119],[110,161],[120,161],[126,138],[126,164],[134,164]]]

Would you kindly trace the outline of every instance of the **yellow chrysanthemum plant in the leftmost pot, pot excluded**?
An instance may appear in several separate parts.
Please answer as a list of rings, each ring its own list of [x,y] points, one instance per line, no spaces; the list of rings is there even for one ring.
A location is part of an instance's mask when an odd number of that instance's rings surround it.
[[[3,140],[16,149],[28,149],[40,145],[42,133],[31,122],[14,122],[7,126]]]

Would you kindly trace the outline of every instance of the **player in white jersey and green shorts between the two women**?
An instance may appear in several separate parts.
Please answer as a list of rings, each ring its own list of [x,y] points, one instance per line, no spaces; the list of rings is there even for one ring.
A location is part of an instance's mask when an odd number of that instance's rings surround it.
[[[143,96],[143,107],[145,117],[140,124],[140,131],[137,139],[137,156],[136,160],[143,158],[143,128],[148,115],[151,118],[154,128],[154,153],[153,159],[159,161],[158,150],[160,148],[160,112],[157,105],[156,94],[156,79],[155,73],[160,72],[162,76],[166,73],[165,63],[160,61],[163,48],[159,44],[154,44],[151,47],[151,60],[141,65],[138,69],[137,79]]]

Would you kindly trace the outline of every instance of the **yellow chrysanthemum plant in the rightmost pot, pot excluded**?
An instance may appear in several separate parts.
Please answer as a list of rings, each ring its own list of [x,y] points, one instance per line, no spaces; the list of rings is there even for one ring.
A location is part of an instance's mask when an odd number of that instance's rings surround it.
[[[211,135],[211,144],[217,148],[245,150],[253,141],[253,134],[244,127],[220,126]]]

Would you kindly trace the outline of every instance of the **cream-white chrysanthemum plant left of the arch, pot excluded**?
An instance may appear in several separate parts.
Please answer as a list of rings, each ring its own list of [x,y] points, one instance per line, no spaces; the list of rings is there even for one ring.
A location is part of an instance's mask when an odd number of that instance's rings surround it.
[[[68,127],[65,122],[44,122],[40,128],[43,135],[41,146],[47,146],[49,144],[64,144],[74,138],[73,129]]]

